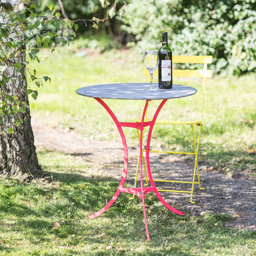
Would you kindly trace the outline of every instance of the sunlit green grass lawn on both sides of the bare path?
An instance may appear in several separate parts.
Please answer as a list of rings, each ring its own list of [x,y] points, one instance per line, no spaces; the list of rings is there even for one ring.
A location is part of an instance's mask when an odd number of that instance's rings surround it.
[[[44,50],[40,64],[30,64],[38,77],[51,77],[51,83],[38,89],[38,99],[30,99],[31,112],[38,118],[51,115],[52,125],[72,127],[88,138],[94,135],[96,139],[113,140],[119,135],[107,112],[75,90],[92,84],[144,82],[142,57],[132,51],[92,54],[88,49],[84,49],[84,55],[82,50],[78,53],[78,43],[57,48],[54,54]],[[200,151],[200,161],[209,171],[256,175],[255,155],[250,153],[256,149],[255,81],[254,75],[209,80]],[[29,85],[36,89],[31,81]],[[135,105],[133,101],[120,104],[113,100],[110,104],[118,117],[130,120],[141,113],[144,102]],[[131,104],[133,108],[129,108]],[[150,104],[153,109],[157,102]],[[194,115],[198,111],[194,105],[189,98],[168,101],[161,115],[173,119]],[[155,128],[153,145],[175,150],[188,147],[189,128],[182,135],[179,127],[169,129]],[[163,136],[168,133],[171,136]],[[127,136],[135,140],[134,131],[127,130]],[[119,183],[110,177],[85,179],[92,167],[81,165],[72,155],[39,149],[38,157],[44,170],[52,173],[52,182],[20,184],[0,178],[0,255],[255,255],[256,231],[225,228],[231,216],[177,216],[152,194],[146,198],[150,242],[146,241],[141,202],[129,200],[127,195],[120,195],[111,211],[88,220],[87,216],[105,205]]]

